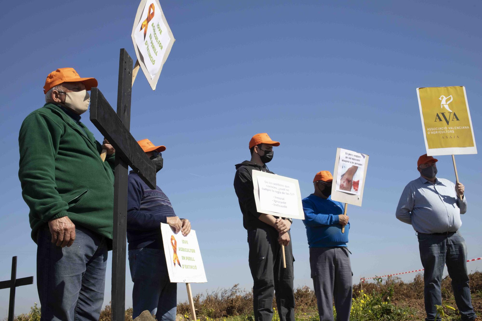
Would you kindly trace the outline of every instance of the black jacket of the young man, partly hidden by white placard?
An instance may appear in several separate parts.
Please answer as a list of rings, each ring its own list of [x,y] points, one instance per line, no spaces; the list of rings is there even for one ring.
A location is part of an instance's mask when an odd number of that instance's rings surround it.
[[[258,218],[261,213],[256,211],[256,203],[254,202],[252,170],[274,174],[268,170],[266,165],[259,166],[252,161],[243,161],[241,164],[236,164],[234,190],[238,196],[243,216],[242,225],[248,230],[256,227],[274,228]]]

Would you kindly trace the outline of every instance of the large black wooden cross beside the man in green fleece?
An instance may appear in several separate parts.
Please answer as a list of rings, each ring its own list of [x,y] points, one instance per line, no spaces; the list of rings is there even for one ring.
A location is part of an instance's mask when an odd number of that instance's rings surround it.
[[[116,149],[114,173],[114,235],[112,251],[112,320],[125,320],[125,251],[127,232],[128,166],[152,189],[156,188],[156,167],[129,132],[131,127],[132,58],[120,49],[117,114],[106,98],[92,88],[90,120]]]

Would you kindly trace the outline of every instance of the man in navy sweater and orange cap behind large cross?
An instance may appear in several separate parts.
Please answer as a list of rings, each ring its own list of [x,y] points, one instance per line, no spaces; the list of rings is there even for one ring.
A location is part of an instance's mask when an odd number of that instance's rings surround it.
[[[164,146],[155,146],[148,139],[138,141],[159,172],[163,165]],[[167,223],[184,236],[191,231],[187,219],[179,219],[173,206],[159,188],[150,189],[134,171],[129,173],[127,191],[127,241],[129,267],[134,282],[132,291],[135,319],[144,310],[157,320],[175,321],[177,283],[171,283],[161,236],[161,223]]]

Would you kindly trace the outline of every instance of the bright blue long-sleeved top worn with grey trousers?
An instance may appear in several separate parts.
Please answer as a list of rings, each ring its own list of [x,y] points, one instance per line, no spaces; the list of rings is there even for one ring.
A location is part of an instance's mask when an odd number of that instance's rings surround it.
[[[338,215],[343,214],[343,203],[332,201],[331,196],[323,199],[311,194],[303,199],[305,212],[306,235],[309,247],[347,246],[350,223],[343,227],[339,224]]]

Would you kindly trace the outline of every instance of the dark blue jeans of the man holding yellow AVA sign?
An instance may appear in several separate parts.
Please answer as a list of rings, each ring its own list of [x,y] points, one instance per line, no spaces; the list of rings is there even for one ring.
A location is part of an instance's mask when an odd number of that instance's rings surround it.
[[[418,233],[418,247],[424,271],[424,298],[426,321],[435,320],[435,305],[442,305],[443,267],[446,264],[452,279],[455,303],[462,321],[476,318],[470,297],[469,276],[467,275],[467,246],[459,232],[448,235]],[[441,320],[440,317],[437,320]]]

